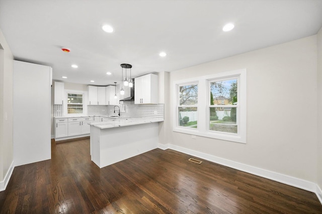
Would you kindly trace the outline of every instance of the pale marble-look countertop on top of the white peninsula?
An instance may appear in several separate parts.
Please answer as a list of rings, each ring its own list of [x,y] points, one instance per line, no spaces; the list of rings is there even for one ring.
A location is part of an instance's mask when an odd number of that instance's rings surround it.
[[[121,126],[131,126],[131,125],[138,125],[144,123],[155,123],[155,122],[162,122],[164,120],[151,120],[145,118],[117,118],[111,121],[104,121],[104,122],[94,122],[90,125],[97,127],[99,129],[106,129],[106,128],[115,128]]]

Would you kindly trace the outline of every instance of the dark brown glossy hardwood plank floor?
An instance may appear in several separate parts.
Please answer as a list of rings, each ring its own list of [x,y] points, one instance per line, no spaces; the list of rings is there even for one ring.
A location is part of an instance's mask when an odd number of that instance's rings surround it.
[[[312,192],[190,157],[154,149],[100,169],[89,138],[52,142],[51,160],[15,167],[0,213],[322,213]]]

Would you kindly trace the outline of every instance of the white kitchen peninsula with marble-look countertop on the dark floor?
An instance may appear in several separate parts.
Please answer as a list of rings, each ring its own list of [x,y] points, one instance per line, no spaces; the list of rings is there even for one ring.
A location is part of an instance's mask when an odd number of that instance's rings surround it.
[[[100,168],[157,148],[158,122],[117,118],[91,124],[91,157]]]

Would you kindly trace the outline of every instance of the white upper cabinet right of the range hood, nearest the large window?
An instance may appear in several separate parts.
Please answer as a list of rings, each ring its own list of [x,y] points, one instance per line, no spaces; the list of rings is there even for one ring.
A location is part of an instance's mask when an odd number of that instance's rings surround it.
[[[158,103],[158,78],[155,74],[147,74],[135,78],[134,103]]]

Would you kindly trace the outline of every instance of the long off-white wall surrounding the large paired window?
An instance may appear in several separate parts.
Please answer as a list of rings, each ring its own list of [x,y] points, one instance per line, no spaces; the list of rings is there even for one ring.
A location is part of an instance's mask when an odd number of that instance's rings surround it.
[[[169,141],[160,138],[160,143],[316,183],[316,60],[316,36],[311,36],[171,72],[173,85],[177,80],[247,69],[247,143],[192,139],[189,134],[173,132],[169,122],[176,119],[172,100],[165,101],[170,114],[165,115],[168,124],[163,126]],[[301,115],[307,108],[310,114]]]

